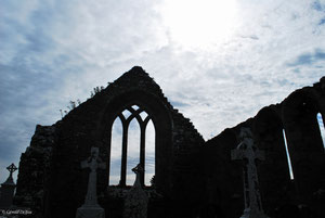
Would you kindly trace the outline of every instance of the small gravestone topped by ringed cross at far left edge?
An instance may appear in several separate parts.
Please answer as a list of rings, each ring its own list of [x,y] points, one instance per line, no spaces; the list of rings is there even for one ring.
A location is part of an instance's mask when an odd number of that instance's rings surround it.
[[[0,208],[8,208],[12,206],[12,200],[15,191],[15,182],[13,181],[12,174],[17,170],[17,167],[14,164],[11,164],[6,167],[10,171],[10,175],[5,182],[1,184],[1,192],[0,192]]]

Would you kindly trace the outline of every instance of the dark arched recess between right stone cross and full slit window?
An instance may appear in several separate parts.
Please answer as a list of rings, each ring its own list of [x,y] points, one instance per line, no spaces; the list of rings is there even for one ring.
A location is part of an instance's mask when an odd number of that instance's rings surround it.
[[[283,123],[278,111],[276,105],[263,107],[253,121],[257,145],[265,153],[265,159],[258,164],[261,195],[263,204],[274,208],[284,203],[280,196],[283,196],[283,189],[288,188],[290,181]]]

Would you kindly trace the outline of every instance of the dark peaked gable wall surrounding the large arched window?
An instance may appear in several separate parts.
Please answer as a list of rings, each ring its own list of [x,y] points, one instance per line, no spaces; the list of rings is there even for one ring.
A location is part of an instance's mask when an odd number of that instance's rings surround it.
[[[166,201],[158,200],[152,205],[171,210],[187,205],[178,195],[187,194],[188,178],[193,176],[188,159],[204,140],[141,67],[123,74],[53,127],[38,126],[31,145],[22,155],[16,204],[32,205],[43,217],[74,217],[87,192],[88,171],[80,168],[80,162],[89,156],[91,146],[98,146],[107,166],[99,171],[100,203],[103,207],[107,201],[107,205],[119,205],[118,198],[107,197],[112,125],[119,113],[133,104],[147,112],[156,130],[155,189]],[[40,133],[44,129],[52,129],[55,139]],[[119,211],[112,211],[110,216],[114,214],[119,216]]]

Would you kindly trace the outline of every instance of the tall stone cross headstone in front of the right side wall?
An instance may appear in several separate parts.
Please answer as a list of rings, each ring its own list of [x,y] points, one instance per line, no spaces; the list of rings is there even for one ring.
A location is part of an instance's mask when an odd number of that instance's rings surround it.
[[[266,218],[262,208],[257,175],[256,159],[263,161],[264,152],[259,151],[252,140],[249,128],[240,129],[242,142],[232,150],[232,159],[243,159],[244,166],[244,197],[245,209],[240,218]]]

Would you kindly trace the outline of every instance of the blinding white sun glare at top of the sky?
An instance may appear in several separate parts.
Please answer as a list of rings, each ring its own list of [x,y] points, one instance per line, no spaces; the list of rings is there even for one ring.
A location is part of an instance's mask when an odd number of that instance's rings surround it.
[[[205,48],[226,41],[235,18],[235,0],[167,0],[162,7],[170,39],[184,47]]]

